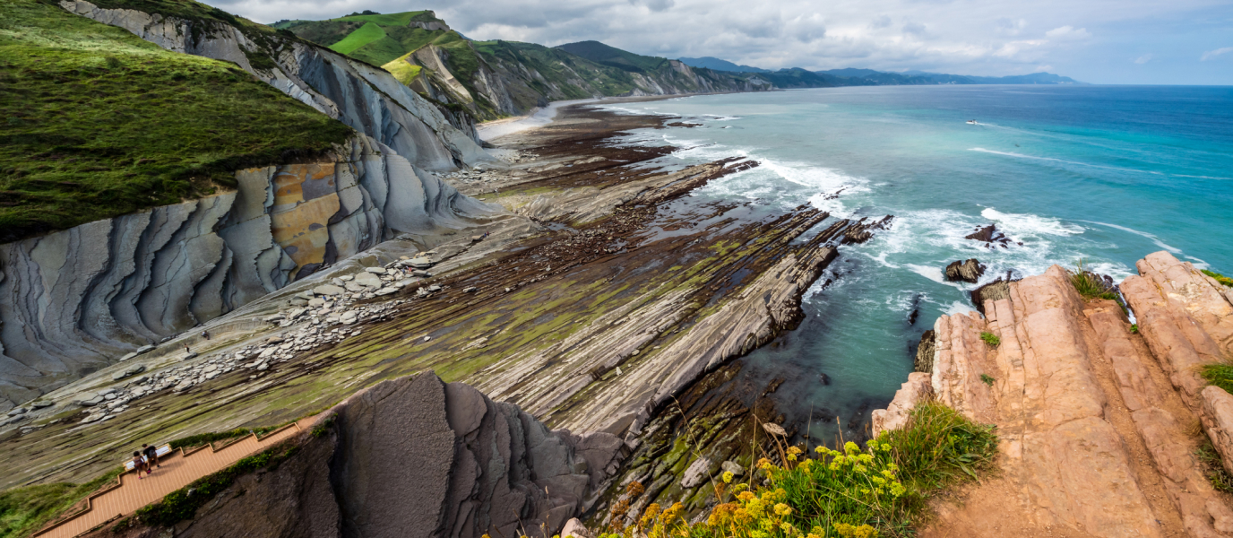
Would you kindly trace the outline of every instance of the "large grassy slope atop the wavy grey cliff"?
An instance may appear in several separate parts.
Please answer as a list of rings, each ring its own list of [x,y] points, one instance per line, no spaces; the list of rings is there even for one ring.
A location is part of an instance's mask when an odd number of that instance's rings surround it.
[[[116,7],[223,21],[191,1]],[[0,2],[0,242],[207,195],[351,136],[234,64],[37,0]]]

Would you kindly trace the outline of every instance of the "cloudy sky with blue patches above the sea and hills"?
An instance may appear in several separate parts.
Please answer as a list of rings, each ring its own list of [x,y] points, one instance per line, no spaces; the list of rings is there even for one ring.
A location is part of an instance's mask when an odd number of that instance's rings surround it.
[[[1231,0],[207,0],[259,22],[434,10],[472,39],[594,39],[767,69],[1233,85]]]

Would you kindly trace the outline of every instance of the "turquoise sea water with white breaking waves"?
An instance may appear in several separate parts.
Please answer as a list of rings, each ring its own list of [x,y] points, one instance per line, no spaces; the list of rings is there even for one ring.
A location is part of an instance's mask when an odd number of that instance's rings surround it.
[[[739,383],[785,379],[788,420],[811,417],[826,441],[836,417],[858,434],[890,401],[940,315],[972,310],[974,285],[942,279],[952,260],[978,258],[991,280],[1084,258],[1121,280],[1165,249],[1233,274],[1233,88],[875,86],[607,107],[703,123],[626,139],[681,147],[677,162],[761,162],[697,196],[895,216],[841,248],[797,331],[741,359]],[[989,223],[1023,244],[963,238]]]

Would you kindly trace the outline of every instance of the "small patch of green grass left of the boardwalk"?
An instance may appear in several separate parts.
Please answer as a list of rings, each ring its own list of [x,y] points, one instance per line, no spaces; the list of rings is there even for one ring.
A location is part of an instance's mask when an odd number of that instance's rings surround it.
[[[85,484],[14,487],[0,494],[0,538],[30,536],[78,501],[116,480],[123,468]]]

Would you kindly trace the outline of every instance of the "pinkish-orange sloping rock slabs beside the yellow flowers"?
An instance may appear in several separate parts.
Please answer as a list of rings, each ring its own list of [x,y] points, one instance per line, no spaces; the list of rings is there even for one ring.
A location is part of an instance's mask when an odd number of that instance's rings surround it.
[[[1118,304],[1084,302],[1055,265],[1009,283],[986,317],[938,318],[931,371],[911,374],[874,431],[936,397],[997,426],[1000,473],[962,506],[938,506],[922,536],[1233,536],[1231,499],[1206,479],[1191,432],[1201,420],[1233,455],[1233,397],[1194,369],[1222,358],[1228,294],[1164,252],[1138,269],[1121,288],[1138,334]]]

